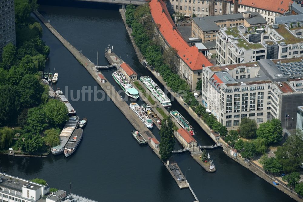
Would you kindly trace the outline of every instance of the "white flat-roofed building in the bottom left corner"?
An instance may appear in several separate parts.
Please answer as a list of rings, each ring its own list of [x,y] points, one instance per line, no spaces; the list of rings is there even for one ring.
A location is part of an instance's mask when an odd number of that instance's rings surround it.
[[[96,202],[75,194],[66,194],[58,190],[49,193],[49,186],[29,180],[0,173],[0,201],[1,202]]]

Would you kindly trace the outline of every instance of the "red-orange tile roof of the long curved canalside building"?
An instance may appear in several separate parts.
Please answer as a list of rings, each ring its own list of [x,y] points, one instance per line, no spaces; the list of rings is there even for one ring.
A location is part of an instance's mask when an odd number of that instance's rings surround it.
[[[197,47],[189,46],[184,40],[176,28],[175,23],[172,21],[166,4],[162,0],[151,0],[149,7],[155,23],[159,25],[158,29],[161,35],[172,48],[177,50],[178,56],[191,70],[202,69],[202,65],[205,65],[205,67],[213,66],[213,64],[198,51]],[[173,29],[173,27],[175,27],[175,29]]]

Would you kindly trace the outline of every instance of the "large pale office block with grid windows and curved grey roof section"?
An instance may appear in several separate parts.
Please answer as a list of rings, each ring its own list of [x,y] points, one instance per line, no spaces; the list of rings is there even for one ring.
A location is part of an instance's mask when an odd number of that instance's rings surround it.
[[[293,129],[297,122],[297,106],[303,99],[303,81],[298,77],[303,76],[302,61],[302,57],[261,59],[205,67],[202,104],[228,130],[235,130],[244,117],[255,119],[258,124],[277,118],[285,122],[285,127]]]

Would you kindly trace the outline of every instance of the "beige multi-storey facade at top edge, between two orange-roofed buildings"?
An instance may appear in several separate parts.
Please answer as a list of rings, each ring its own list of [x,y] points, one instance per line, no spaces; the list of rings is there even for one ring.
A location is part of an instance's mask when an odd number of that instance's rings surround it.
[[[229,0],[170,0],[167,9],[170,13],[181,13],[185,16],[206,17],[230,13]]]

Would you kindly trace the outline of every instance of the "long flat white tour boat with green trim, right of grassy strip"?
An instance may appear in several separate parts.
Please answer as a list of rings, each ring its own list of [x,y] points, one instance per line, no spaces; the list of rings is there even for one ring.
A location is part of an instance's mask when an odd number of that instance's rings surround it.
[[[141,76],[140,81],[148,88],[162,106],[171,106],[171,101],[168,96],[165,95],[161,88],[149,76]]]

